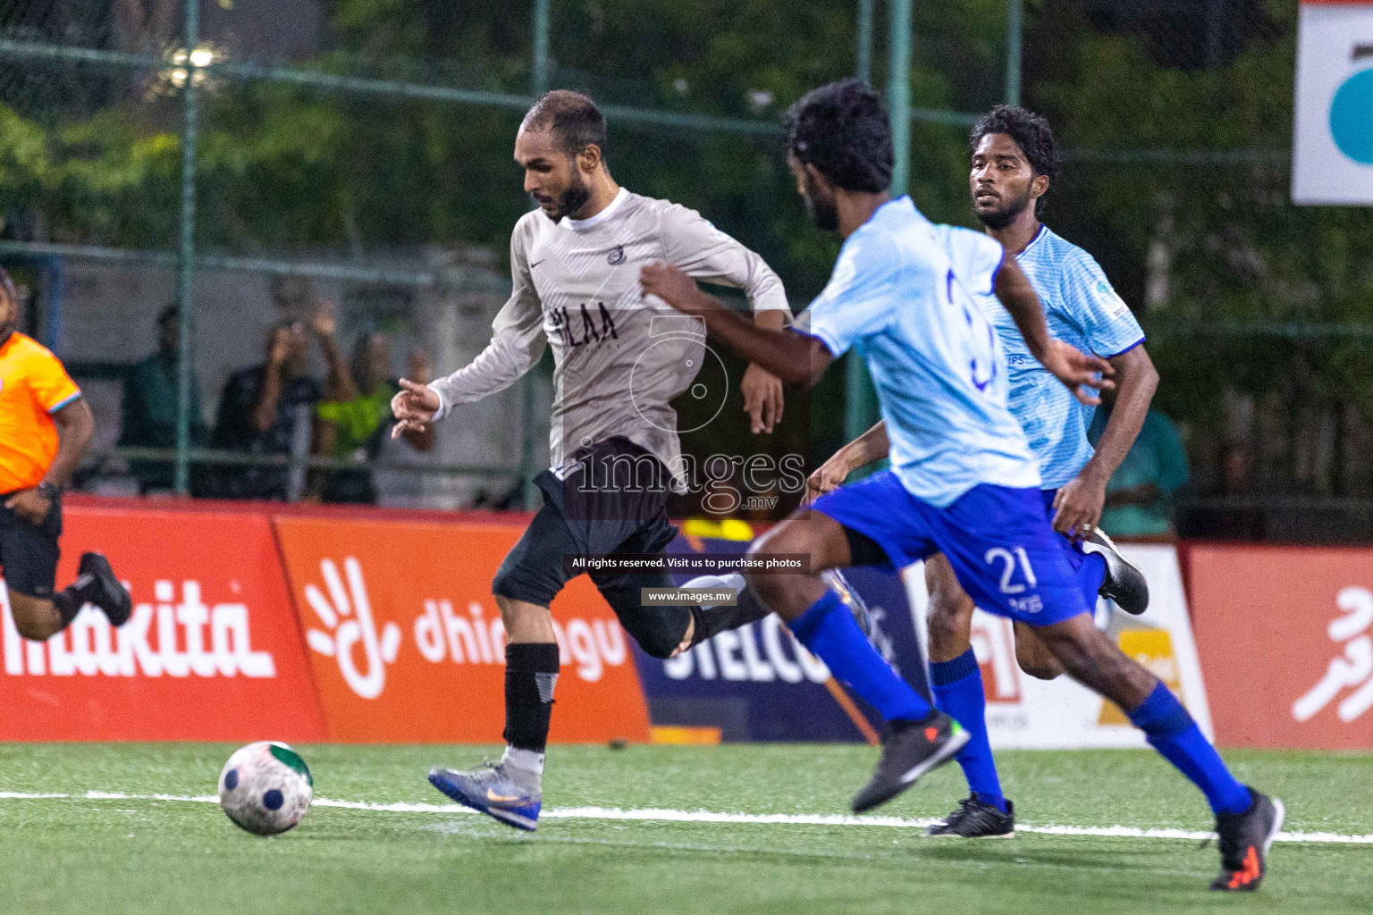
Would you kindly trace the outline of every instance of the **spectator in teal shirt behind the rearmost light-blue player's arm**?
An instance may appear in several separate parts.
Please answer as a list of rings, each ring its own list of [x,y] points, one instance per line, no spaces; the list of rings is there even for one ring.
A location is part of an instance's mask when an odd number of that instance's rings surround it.
[[[1103,403],[1092,423],[1094,443],[1111,416]],[[1167,536],[1173,530],[1173,494],[1188,482],[1188,455],[1173,420],[1156,409],[1124,461],[1107,483],[1101,528],[1111,536]]]

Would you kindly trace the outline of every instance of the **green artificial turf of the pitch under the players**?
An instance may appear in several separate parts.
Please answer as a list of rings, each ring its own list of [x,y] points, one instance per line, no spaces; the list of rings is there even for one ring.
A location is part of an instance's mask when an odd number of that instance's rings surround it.
[[[303,746],[316,797],[445,804],[434,763],[483,749]],[[1020,833],[928,840],[914,829],[545,819],[526,834],[468,813],[316,807],[258,838],[214,804],[89,800],[85,792],[205,796],[232,746],[0,745],[0,911],[7,912],[1362,912],[1373,845],[1278,844],[1256,894],[1207,893],[1212,844]],[[1373,834],[1373,757],[1227,753],[1288,804],[1291,831]],[[865,746],[553,748],[545,809],[669,808],[846,813],[875,759]],[[998,754],[1034,826],[1207,830],[1201,796],[1146,752]],[[956,767],[881,808],[947,812]]]

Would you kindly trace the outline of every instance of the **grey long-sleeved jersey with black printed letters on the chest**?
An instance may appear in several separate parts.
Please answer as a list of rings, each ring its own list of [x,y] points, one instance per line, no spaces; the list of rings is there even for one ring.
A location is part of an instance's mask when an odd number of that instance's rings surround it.
[[[643,295],[640,270],[656,261],[743,289],[755,313],[791,314],[781,280],[763,259],[695,210],[625,189],[589,219],[555,224],[534,210],[511,236],[514,289],[492,322],[490,344],[430,384],[442,401],[438,417],[514,384],[546,342],[555,366],[552,468],[563,469],[582,446],[622,435],[680,482],[677,413],[669,401],[715,357],[707,354],[700,318]]]

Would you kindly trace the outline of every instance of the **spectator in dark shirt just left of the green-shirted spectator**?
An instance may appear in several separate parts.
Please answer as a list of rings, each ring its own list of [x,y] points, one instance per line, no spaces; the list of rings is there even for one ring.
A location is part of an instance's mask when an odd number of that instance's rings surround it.
[[[266,337],[266,362],[235,372],[220,395],[211,447],[258,455],[310,454],[320,385],[308,375],[309,342],[301,321],[277,321]],[[297,499],[303,465],[221,466],[214,495],[233,499]]]

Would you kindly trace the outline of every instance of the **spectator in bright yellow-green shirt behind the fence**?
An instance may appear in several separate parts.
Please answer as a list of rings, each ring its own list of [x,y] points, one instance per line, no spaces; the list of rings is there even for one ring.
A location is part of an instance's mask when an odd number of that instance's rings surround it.
[[[324,401],[314,407],[314,453],[357,468],[327,471],[316,477],[314,491],[325,502],[376,502],[371,465],[382,450],[394,417],[391,398],[401,385],[391,377],[391,342],[380,332],[364,333],[353,344],[353,358],[345,364],[334,339],[332,306],[321,305],[314,314],[314,332],[328,364]],[[419,384],[430,380],[428,359],[423,353],[411,354],[406,377]],[[434,447],[434,427],[423,432],[405,431],[405,440],[419,451]]]

